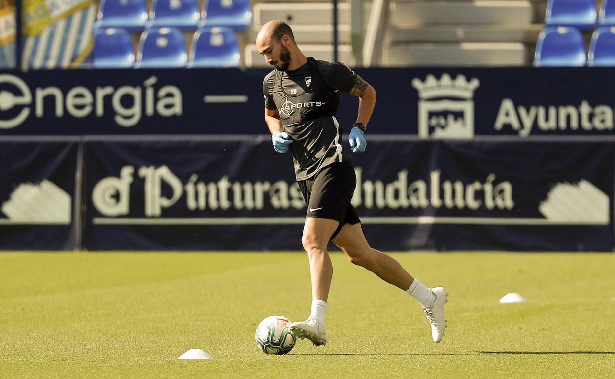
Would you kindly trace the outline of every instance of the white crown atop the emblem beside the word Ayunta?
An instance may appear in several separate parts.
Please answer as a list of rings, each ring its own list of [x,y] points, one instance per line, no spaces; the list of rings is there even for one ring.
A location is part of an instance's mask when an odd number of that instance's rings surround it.
[[[440,80],[431,74],[427,75],[424,82],[418,78],[412,79],[412,87],[418,90],[421,99],[454,97],[470,100],[479,85],[480,81],[475,77],[468,82],[463,75],[458,75],[455,80],[449,74],[442,74]]]

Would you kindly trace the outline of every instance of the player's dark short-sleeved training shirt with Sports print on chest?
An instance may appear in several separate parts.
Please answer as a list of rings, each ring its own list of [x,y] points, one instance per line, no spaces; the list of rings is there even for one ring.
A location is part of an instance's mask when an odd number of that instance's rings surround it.
[[[338,91],[349,92],[357,75],[344,64],[315,60],[293,71],[269,72],[263,80],[267,109],[277,109],[289,145],[298,181],[309,179],[334,162],[351,160],[342,145],[343,129],[335,115]]]

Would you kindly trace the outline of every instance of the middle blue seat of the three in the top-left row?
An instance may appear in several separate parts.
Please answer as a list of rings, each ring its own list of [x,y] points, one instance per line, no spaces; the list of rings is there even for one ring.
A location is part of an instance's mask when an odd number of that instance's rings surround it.
[[[199,17],[196,0],[154,0],[149,25],[196,29]]]

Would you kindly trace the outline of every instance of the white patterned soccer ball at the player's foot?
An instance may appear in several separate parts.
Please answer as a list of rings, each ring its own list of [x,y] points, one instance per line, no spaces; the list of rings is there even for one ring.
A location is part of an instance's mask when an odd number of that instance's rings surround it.
[[[256,327],[256,345],[265,354],[286,354],[293,350],[296,338],[290,331],[290,320],[284,316],[269,316]]]

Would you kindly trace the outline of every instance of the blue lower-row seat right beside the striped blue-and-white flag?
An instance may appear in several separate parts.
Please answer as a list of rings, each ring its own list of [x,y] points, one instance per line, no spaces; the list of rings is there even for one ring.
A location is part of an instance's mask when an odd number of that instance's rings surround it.
[[[132,68],[135,50],[130,33],[122,28],[97,28],[93,30],[94,68]]]

